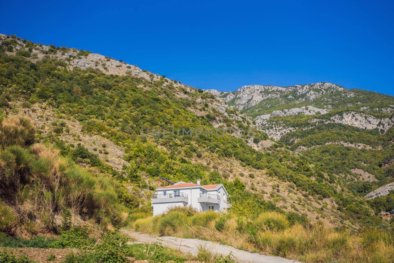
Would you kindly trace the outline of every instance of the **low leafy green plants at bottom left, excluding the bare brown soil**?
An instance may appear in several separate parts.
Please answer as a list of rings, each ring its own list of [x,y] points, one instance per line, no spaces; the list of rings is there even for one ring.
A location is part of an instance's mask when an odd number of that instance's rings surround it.
[[[73,235],[72,238],[81,239],[78,235]],[[24,244],[28,244],[28,247],[39,247],[39,248],[79,248],[80,252],[74,254],[70,251],[67,257],[62,261],[68,262],[106,262],[106,263],[126,263],[130,262],[129,257],[134,257],[136,260],[149,260],[149,262],[184,262],[190,258],[190,256],[183,255],[176,250],[164,248],[161,244],[133,244],[128,245],[128,238],[119,234],[118,231],[105,231],[99,240],[90,239],[91,242],[87,242],[85,246],[81,244],[67,244],[67,246],[58,246],[61,244],[63,237],[59,239],[51,239],[52,245],[45,246],[45,238],[35,238],[34,242],[26,239],[15,239],[13,237],[6,237],[1,234],[0,245],[4,247],[23,247]],[[63,239],[64,240],[64,239]],[[17,244],[17,241],[20,243]],[[48,261],[56,259],[54,253],[49,254]],[[0,262],[1,263],[27,263],[32,262],[28,259],[25,254],[17,254],[13,250],[0,250]]]

